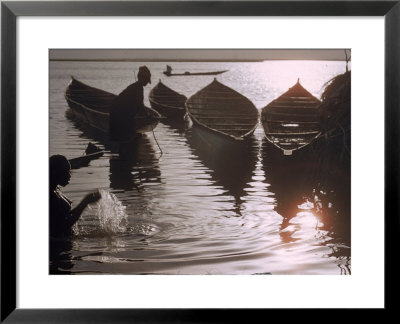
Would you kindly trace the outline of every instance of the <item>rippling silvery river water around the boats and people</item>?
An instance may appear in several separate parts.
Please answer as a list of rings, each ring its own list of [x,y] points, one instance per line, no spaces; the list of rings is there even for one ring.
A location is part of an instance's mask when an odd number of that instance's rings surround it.
[[[96,133],[67,118],[71,75],[117,94],[144,64],[152,72],[146,105],[158,79],[189,97],[214,78],[166,77],[169,64],[176,72],[229,70],[218,81],[258,109],[298,78],[320,97],[325,83],[345,71],[344,62],[331,61],[50,62],[50,155],[77,157],[89,142],[105,149],[89,166],[72,170],[63,188],[74,205],[95,189],[103,198],[51,256],[52,268],[72,274],[351,274],[345,181],[331,170],[309,181],[310,167],[274,161],[261,126],[251,151],[232,159],[204,149],[190,123],[159,123],[132,158],[120,159]]]

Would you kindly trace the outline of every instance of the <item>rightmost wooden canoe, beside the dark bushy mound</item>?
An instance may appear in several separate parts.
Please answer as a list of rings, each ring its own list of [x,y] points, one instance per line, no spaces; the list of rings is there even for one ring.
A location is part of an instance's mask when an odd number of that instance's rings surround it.
[[[269,143],[284,155],[292,155],[314,141],[321,134],[320,103],[298,80],[261,111],[261,123]]]

